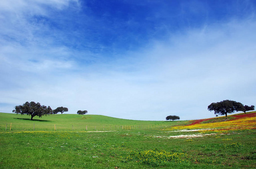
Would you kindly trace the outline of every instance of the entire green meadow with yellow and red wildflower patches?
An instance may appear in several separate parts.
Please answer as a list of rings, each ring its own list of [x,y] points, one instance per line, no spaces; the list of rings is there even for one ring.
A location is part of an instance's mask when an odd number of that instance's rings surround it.
[[[256,112],[174,122],[0,113],[0,168],[256,168]]]

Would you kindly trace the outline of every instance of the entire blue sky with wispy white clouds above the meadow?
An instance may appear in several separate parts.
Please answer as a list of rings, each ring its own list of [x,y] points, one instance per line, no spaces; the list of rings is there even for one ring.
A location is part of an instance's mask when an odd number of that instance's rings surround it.
[[[255,105],[255,1],[0,2],[0,112],[26,101],[117,118]]]

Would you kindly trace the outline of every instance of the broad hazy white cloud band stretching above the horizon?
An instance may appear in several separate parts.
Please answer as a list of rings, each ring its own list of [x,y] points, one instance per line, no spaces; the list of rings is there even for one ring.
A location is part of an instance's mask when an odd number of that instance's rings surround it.
[[[0,10],[8,9],[10,2],[1,2]],[[32,11],[33,15],[36,11],[47,15],[44,7],[37,6],[39,3],[57,8],[69,4],[29,2],[34,9],[40,8]],[[29,4],[17,3],[19,7],[14,5],[8,10],[22,11]],[[20,24],[18,20],[5,20],[11,24],[10,32],[8,26],[0,29],[16,39],[29,35],[33,39],[38,27],[28,24],[28,30],[20,32],[15,23],[24,26],[27,20],[20,20]],[[231,99],[255,105],[255,29],[254,20],[207,25],[106,63],[99,60],[103,56],[85,59],[92,63],[81,63],[76,59],[89,57],[89,52],[51,46],[51,37],[45,37],[45,46],[38,45],[38,41],[29,41],[30,46],[4,39],[0,41],[5,44],[0,48],[0,70],[4,72],[0,75],[0,103],[15,106],[36,101],[52,108],[66,106],[69,113],[81,109],[89,114],[128,119],[164,120],[174,114],[181,119],[214,117],[207,110],[212,102]],[[11,110],[6,106],[0,109]]]

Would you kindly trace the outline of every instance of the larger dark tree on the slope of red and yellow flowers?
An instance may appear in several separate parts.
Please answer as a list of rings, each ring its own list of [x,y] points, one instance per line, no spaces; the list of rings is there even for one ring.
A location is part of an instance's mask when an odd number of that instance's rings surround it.
[[[242,111],[243,109],[244,105],[232,100],[223,100],[217,103],[212,103],[208,106],[209,111],[214,110],[214,114],[225,115],[225,117],[227,117],[228,113]]]

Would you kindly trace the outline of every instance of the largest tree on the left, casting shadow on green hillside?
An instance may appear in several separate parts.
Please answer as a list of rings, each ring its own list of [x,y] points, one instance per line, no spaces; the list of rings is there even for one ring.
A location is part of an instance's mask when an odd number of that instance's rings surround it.
[[[40,103],[34,103],[34,101],[31,101],[31,103],[29,103],[27,101],[23,105],[15,106],[15,110],[12,110],[12,112],[17,114],[20,113],[21,115],[31,115],[31,120],[33,120],[33,117],[35,117],[36,115],[39,117],[42,117],[42,115],[49,115],[53,112],[53,110],[50,106],[41,106]]]

